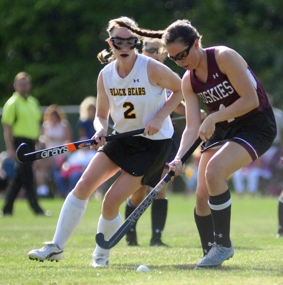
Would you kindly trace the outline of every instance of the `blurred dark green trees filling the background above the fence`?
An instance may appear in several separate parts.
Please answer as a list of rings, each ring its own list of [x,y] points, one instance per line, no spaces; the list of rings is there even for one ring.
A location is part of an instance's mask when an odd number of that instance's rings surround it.
[[[241,54],[283,108],[282,0],[0,0],[0,15],[0,107],[20,71],[31,74],[41,105],[78,105],[96,96],[103,67],[96,55],[108,49],[108,21],[128,16],[152,30],[189,19],[204,47],[226,45]]]

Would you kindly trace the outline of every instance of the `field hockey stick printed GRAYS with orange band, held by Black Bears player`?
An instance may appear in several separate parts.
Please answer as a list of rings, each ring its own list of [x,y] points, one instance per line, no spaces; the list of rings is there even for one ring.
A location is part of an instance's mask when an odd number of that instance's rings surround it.
[[[143,132],[144,132],[144,129],[139,129],[139,130],[130,131],[130,132],[126,132],[126,133],[110,135],[110,136],[105,137],[105,140],[106,140],[106,142],[108,142],[108,141],[113,141],[116,139],[123,139],[123,138],[131,137],[134,135],[140,135]],[[25,143],[22,143],[17,148],[16,158],[21,163],[27,163],[27,162],[32,162],[34,160],[38,160],[41,158],[46,158],[46,157],[54,156],[54,155],[61,154],[64,152],[73,151],[73,150],[76,150],[78,148],[91,146],[94,144],[97,144],[95,139],[90,139],[90,140],[79,141],[79,142],[75,142],[75,143],[69,143],[69,144],[64,144],[64,145],[60,145],[60,146],[55,146],[55,147],[51,147],[51,148],[47,148],[47,149],[43,149],[43,150],[38,150],[35,152],[31,152],[31,153],[26,153],[27,145]]]

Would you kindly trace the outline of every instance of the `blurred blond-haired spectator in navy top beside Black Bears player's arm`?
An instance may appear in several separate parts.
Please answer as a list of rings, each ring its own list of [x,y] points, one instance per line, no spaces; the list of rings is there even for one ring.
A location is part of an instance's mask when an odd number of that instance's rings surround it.
[[[93,121],[96,113],[96,98],[86,97],[80,104],[80,118],[77,129],[80,137],[91,139],[95,133]]]

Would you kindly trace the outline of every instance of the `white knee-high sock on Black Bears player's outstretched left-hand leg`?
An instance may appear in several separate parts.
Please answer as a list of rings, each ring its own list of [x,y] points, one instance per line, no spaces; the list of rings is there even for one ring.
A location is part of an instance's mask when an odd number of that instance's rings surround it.
[[[87,200],[80,200],[70,192],[62,206],[53,243],[63,249],[66,242],[80,223],[86,210]]]

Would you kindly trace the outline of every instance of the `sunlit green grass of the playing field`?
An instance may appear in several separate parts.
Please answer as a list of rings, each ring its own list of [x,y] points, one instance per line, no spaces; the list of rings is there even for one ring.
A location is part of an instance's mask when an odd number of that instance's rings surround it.
[[[51,217],[36,217],[17,200],[12,217],[0,217],[0,284],[283,284],[283,240],[276,238],[277,198],[232,195],[231,240],[235,255],[215,269],[194,270],[202,250],[193,217],[195,197],[168,194],[163,241],[149,247],[150,209],[138,221],[140,247],[124,238],[111,251],[110,266],[91,268],[101,201],[90,199],[86,213],[56,262],[29,260],[31,249],[52,240],[62,200],[41,200]],[[3,205],[3,200],[0,200]],[[124,205],[120,212],[124,215]],[[149,272],[137,272],[144,264]]]

